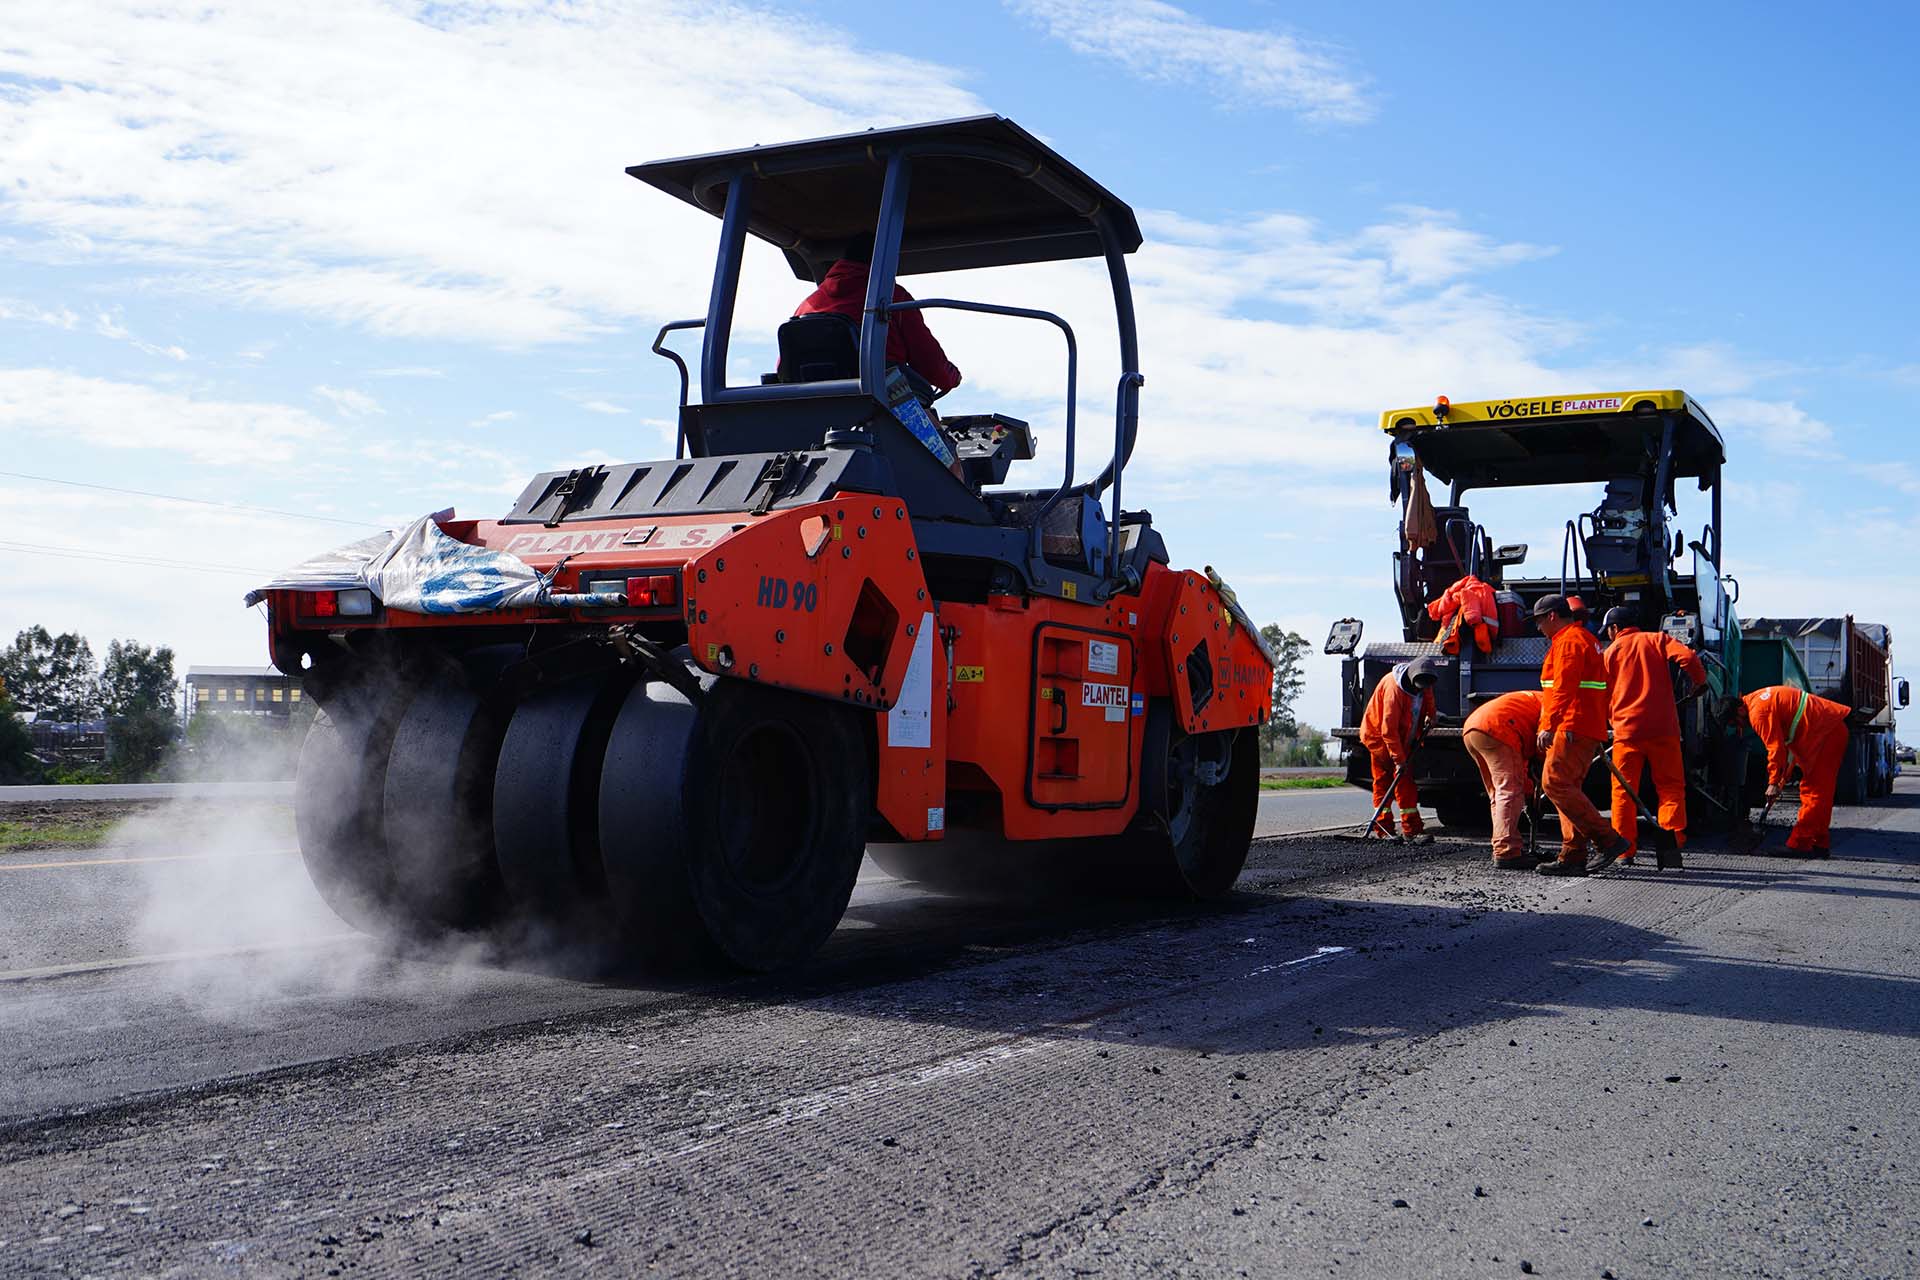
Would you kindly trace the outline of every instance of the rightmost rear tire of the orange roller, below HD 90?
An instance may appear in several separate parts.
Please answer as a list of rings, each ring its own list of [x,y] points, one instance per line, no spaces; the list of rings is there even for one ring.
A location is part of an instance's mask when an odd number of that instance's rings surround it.
[[[849,708],[737,679],[714,681],[697,708],[637,687],[601,775],[601,856],[630,938],[743,969],[803,961],[852,896],[868,796]]]

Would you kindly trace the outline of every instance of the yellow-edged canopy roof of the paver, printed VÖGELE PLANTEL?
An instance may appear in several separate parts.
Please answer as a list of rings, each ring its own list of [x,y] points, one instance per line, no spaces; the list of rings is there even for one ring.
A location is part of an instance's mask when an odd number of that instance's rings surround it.
[[[1597,391],[1388,409],[1380,430],[1413,445],[1421,464],[1463,489],[1578,484],[1638,474],[1674,420],[1676,478],[1711,478],[1726,461],[1713,418],[1686,391]]]

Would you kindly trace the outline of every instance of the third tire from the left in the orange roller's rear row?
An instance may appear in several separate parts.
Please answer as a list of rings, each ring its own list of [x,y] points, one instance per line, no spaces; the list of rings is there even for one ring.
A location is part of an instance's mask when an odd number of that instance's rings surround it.
[[[493,768],[493,858],[507,900],[555,940],[612,929],[599,785],[630,687],[624,676],[589,676],[526,699]]]

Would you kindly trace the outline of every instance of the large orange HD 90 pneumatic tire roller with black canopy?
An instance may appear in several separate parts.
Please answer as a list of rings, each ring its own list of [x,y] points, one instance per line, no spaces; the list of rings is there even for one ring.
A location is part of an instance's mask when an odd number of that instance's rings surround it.
[[[835,929],[862,852],[933,887],[1083,867],[1227,892],[1273,656],[1121,505],[1144,384],[1133,209],[996,115],[628,173],[718,219],[705,313],[653,342],[678,368],[676,455],[555,468],[499,518],[422,516],[250,597],[323,710],[296,825],[324,898],[384,933],[528,927],[776,969]],[[735,334],[764,246],[797,301],[868,257],[860,315]],[[1064,317],[895,294],[1068,259],[1112,286],[1121,372],[1094,445]],[[1058,482],[1006,484],[1029,424],[939,413],[889,363],[914,309],[1056,336]],[[693,370],[672,345],[689,330]],[[737,382],[755,338],[778,365]]]

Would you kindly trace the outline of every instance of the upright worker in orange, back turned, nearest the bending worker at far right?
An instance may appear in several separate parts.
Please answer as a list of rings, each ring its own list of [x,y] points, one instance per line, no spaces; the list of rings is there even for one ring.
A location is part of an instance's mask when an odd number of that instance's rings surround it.
[[[1686,762],[1680,758],[1680,706],[1668,662],[1678,662],[1695,689],[1707,687],[1707,668],[1699,654],[1665,631],[1642,631],[1634,614],[1609,608],[1599,626],[1607,637],[1607,697],[1613,708],[1613,768],[1628,787],[1640,789],[1640,775],[1653,771],[1653,791],[1661,798],[1661,829],[1676,844],[1686,844]],[[1622,860],[1634,860],[1640,835],[1636,796],[1613,779],[1613,829],[1626,841]]]

